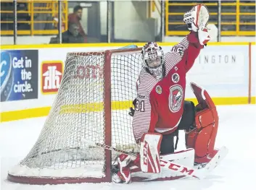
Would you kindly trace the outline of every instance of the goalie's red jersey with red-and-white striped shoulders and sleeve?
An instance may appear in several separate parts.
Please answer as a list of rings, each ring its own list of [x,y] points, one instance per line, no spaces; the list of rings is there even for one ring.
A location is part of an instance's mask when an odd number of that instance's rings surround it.
[[[194,35],[194,36],[189,36]],[[142,69],[137,81],[137,101],[133,116],[133,134],[138,141],[145,132],[172,133],[183,114],[186,72],[191,69],[202,46],[189,43],[191,33],[165,53],[165,77],[157,81]]]

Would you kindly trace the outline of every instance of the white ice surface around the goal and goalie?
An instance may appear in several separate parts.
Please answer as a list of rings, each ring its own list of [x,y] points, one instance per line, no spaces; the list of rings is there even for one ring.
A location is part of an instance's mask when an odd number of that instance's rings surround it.
[[[256,153],[255,153],[255,117],[256,105],[218,106],[220,126],[215,147],[225,145],[228,155],[203,180],[182,179],[176,181],[157,181],[116,184],[116,183],[80,183],[63,185],[24,185],[7,181],[7,172],[28,154],[38,138],[46,118],[30,118],[20,121],[1,123],[0,126],[0,169],[1,190],[58,190],[58,189],[159,189],[159,190],[247,190],[256,189]],[[178,149],[184,147],[182,135]]]

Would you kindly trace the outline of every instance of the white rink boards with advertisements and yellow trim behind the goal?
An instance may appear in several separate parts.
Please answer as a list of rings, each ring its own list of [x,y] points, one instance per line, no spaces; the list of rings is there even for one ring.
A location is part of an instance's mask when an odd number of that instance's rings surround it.
[[[5,95],[1,91],[1,97],[4,97],[1,98],[1,121],[48,115],[58,89],[44,89],[45,76],[49,74],[45,66],[56,66],[61,79],[68,52],[100,51],[130,44],[2,46],[1,72],[6,69],[8,73],[8,64],[2,64],[2,61],[7,59],[9,53],[12,75],[1,77],[1,88],[5,85],[6,92]],[[160,46],[167,52],[175,44],[160,43]],[[136,45],[143,46],[144,43]],[[187,75],[186,99],[195,100],[189,82],[196,82],[210,93],[217,105],[255,103],[255,52],[255,43],[210,43],[202,50]],[[4,83],[7,77],[9,82]],[[11,97],[9,100],[8,95]],[[128,109],[131,100],[114,100],[112,109]]]

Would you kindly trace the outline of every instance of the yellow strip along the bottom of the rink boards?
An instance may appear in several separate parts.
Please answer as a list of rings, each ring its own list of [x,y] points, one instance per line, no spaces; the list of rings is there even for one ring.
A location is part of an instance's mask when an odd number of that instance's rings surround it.
[[[255,104],[255,97],[251,98],[251,103]],[[186,100],[193,101],[197,104],[196,98],[188,98]],[[239,105],[239,104],[248,104],[247,97],[225,97],[225,98],[212,98],[215,105]],[[132,106],[132,101],[123,101],[123,102],[112,102],[112,110],[124,110],[129,109]],[[102,111],[103,103],[91,103],[86,105],[65,105],[60,109],[60,114],[63,113],[83,113],[88,111]],[[7,111],[1,112],[0,118],[1,122],[6,121],[15,121],[24,118],[36,118],[42,116],[48,116],[51,107],[42,107],[42,108],[31,108],[20,111]],[[128,114],[128,113],[127,113]]]

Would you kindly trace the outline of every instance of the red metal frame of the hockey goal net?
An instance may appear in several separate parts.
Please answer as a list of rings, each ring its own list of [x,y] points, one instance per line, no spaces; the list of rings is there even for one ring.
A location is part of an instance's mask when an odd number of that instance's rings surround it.
[[[142,48],[130,48],[130,49],[114,49],[107,51],[95,51],[84,53],[69,53],[71,56],[86,56],[86,55],[104,55],[104,142],[106,145],[112,146],[112,108],[111,108],[111,60],[112,56],[125,55],[131,53],[140,53]],[[65,72],[64,72],[65,74]],[[54,101],[55,103],[55,101]],[[51,113],[51,111],[50,111]],[[37,176],[19,176],[8,173],[7,179],[15,183],[28,183],[28,184],[62,184],[62,183],[102,183],[111,182],[111,165],[112,165],[112,152],[104,149],[105,156],[105,176],[102,178],[93,177],[52,177],[44,178]]]

